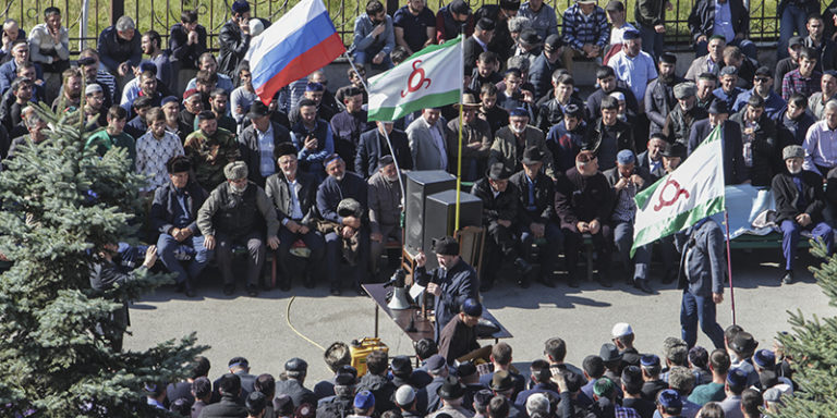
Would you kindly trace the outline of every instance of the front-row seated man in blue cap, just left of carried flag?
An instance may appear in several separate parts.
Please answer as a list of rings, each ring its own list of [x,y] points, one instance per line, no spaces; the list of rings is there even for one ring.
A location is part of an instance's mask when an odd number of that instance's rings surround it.
[[[622,149],[616,156],[616,167],[604,172],[607,182],[612,187],[616,197],[610,224],[614,233],[614,246],[617,257],[624,268],[624,280],[628,284],[645,293],[652,293],[648,286],[648,265],[651,263],[650,246],[636,248],[631,260],[633,245],[633,222],[636,218],[636,194],[651,185],[648,172],[636,165],[636,157],[630,149]],[[633,271],[631,271],[633,270]]]

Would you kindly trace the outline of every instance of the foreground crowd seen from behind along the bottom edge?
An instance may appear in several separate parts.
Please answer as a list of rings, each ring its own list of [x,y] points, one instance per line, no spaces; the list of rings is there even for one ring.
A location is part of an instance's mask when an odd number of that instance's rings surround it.
[[[480,317],[470,299],[463,316]],[[798,389],[793,359],[781,344],[756,349],[753,335],[738,325],[723,332],[712,351],[667,337],[659,355],[634,347],[629,323],[612,327],[598,354],[581,368],[566,362],[569,345],[544,343],[544,357],[525,364],[509,344],[488,346],[487,361],[459,361],[447,345],[430,339],[414,344],[414,360],[372,352],[361,371],[349,347],[333,343],[325,362],[333,376],[306,380],[308,364],[298,357],[275,378],[251,373],[244,357],[209,380],[210,365],[195,358],[189,378],[153,382],[148,404],[202,418],[761,418],[779,410]],[[527,365],[519,370],[515,365]]]

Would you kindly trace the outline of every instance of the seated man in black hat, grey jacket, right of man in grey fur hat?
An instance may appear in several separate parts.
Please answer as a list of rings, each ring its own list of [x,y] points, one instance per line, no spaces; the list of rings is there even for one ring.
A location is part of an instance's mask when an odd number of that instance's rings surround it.
[[[264,104],[263,104],[264,106]],[[291,280],[304,275],[303,283],[313,287],[323,274],[323,255],[326,244],[315,229],[317,220],[317,183],[313,175],[300,172],[296,163],[296,147],[284,142],[274,148],[274,158],[279,171],[267,177],[267,197],[276,207],[279,222],[279,250],[277,257],[281,269],[279,288],[290,291]],[[291,269],[291,247],[302,241],[311,251],[305,274]]]

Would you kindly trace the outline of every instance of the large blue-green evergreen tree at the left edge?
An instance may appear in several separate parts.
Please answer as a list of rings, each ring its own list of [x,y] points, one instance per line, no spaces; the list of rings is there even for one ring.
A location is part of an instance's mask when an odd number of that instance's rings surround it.
[[[47,139],[17,147],[0,173],[0,416],[166,415],[146,405],[143,388],[184,378],[206,349],[195,334],[145,352],[114,352],[111,312],[166,276],[140,273],[107,292],[90,288],[93,255],[125,242],[140,213],[143,179],[124,150],[84,151],[77,112],[36,109]]]

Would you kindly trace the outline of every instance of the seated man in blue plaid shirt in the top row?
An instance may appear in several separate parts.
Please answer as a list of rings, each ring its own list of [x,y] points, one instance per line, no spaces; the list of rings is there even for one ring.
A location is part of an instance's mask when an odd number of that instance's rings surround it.
[[[574,58],[594,59],[605,53],[610,40],[610,25],[605,10],[595,0],[575,0],[563,12],[563,64],[572,74]]]

